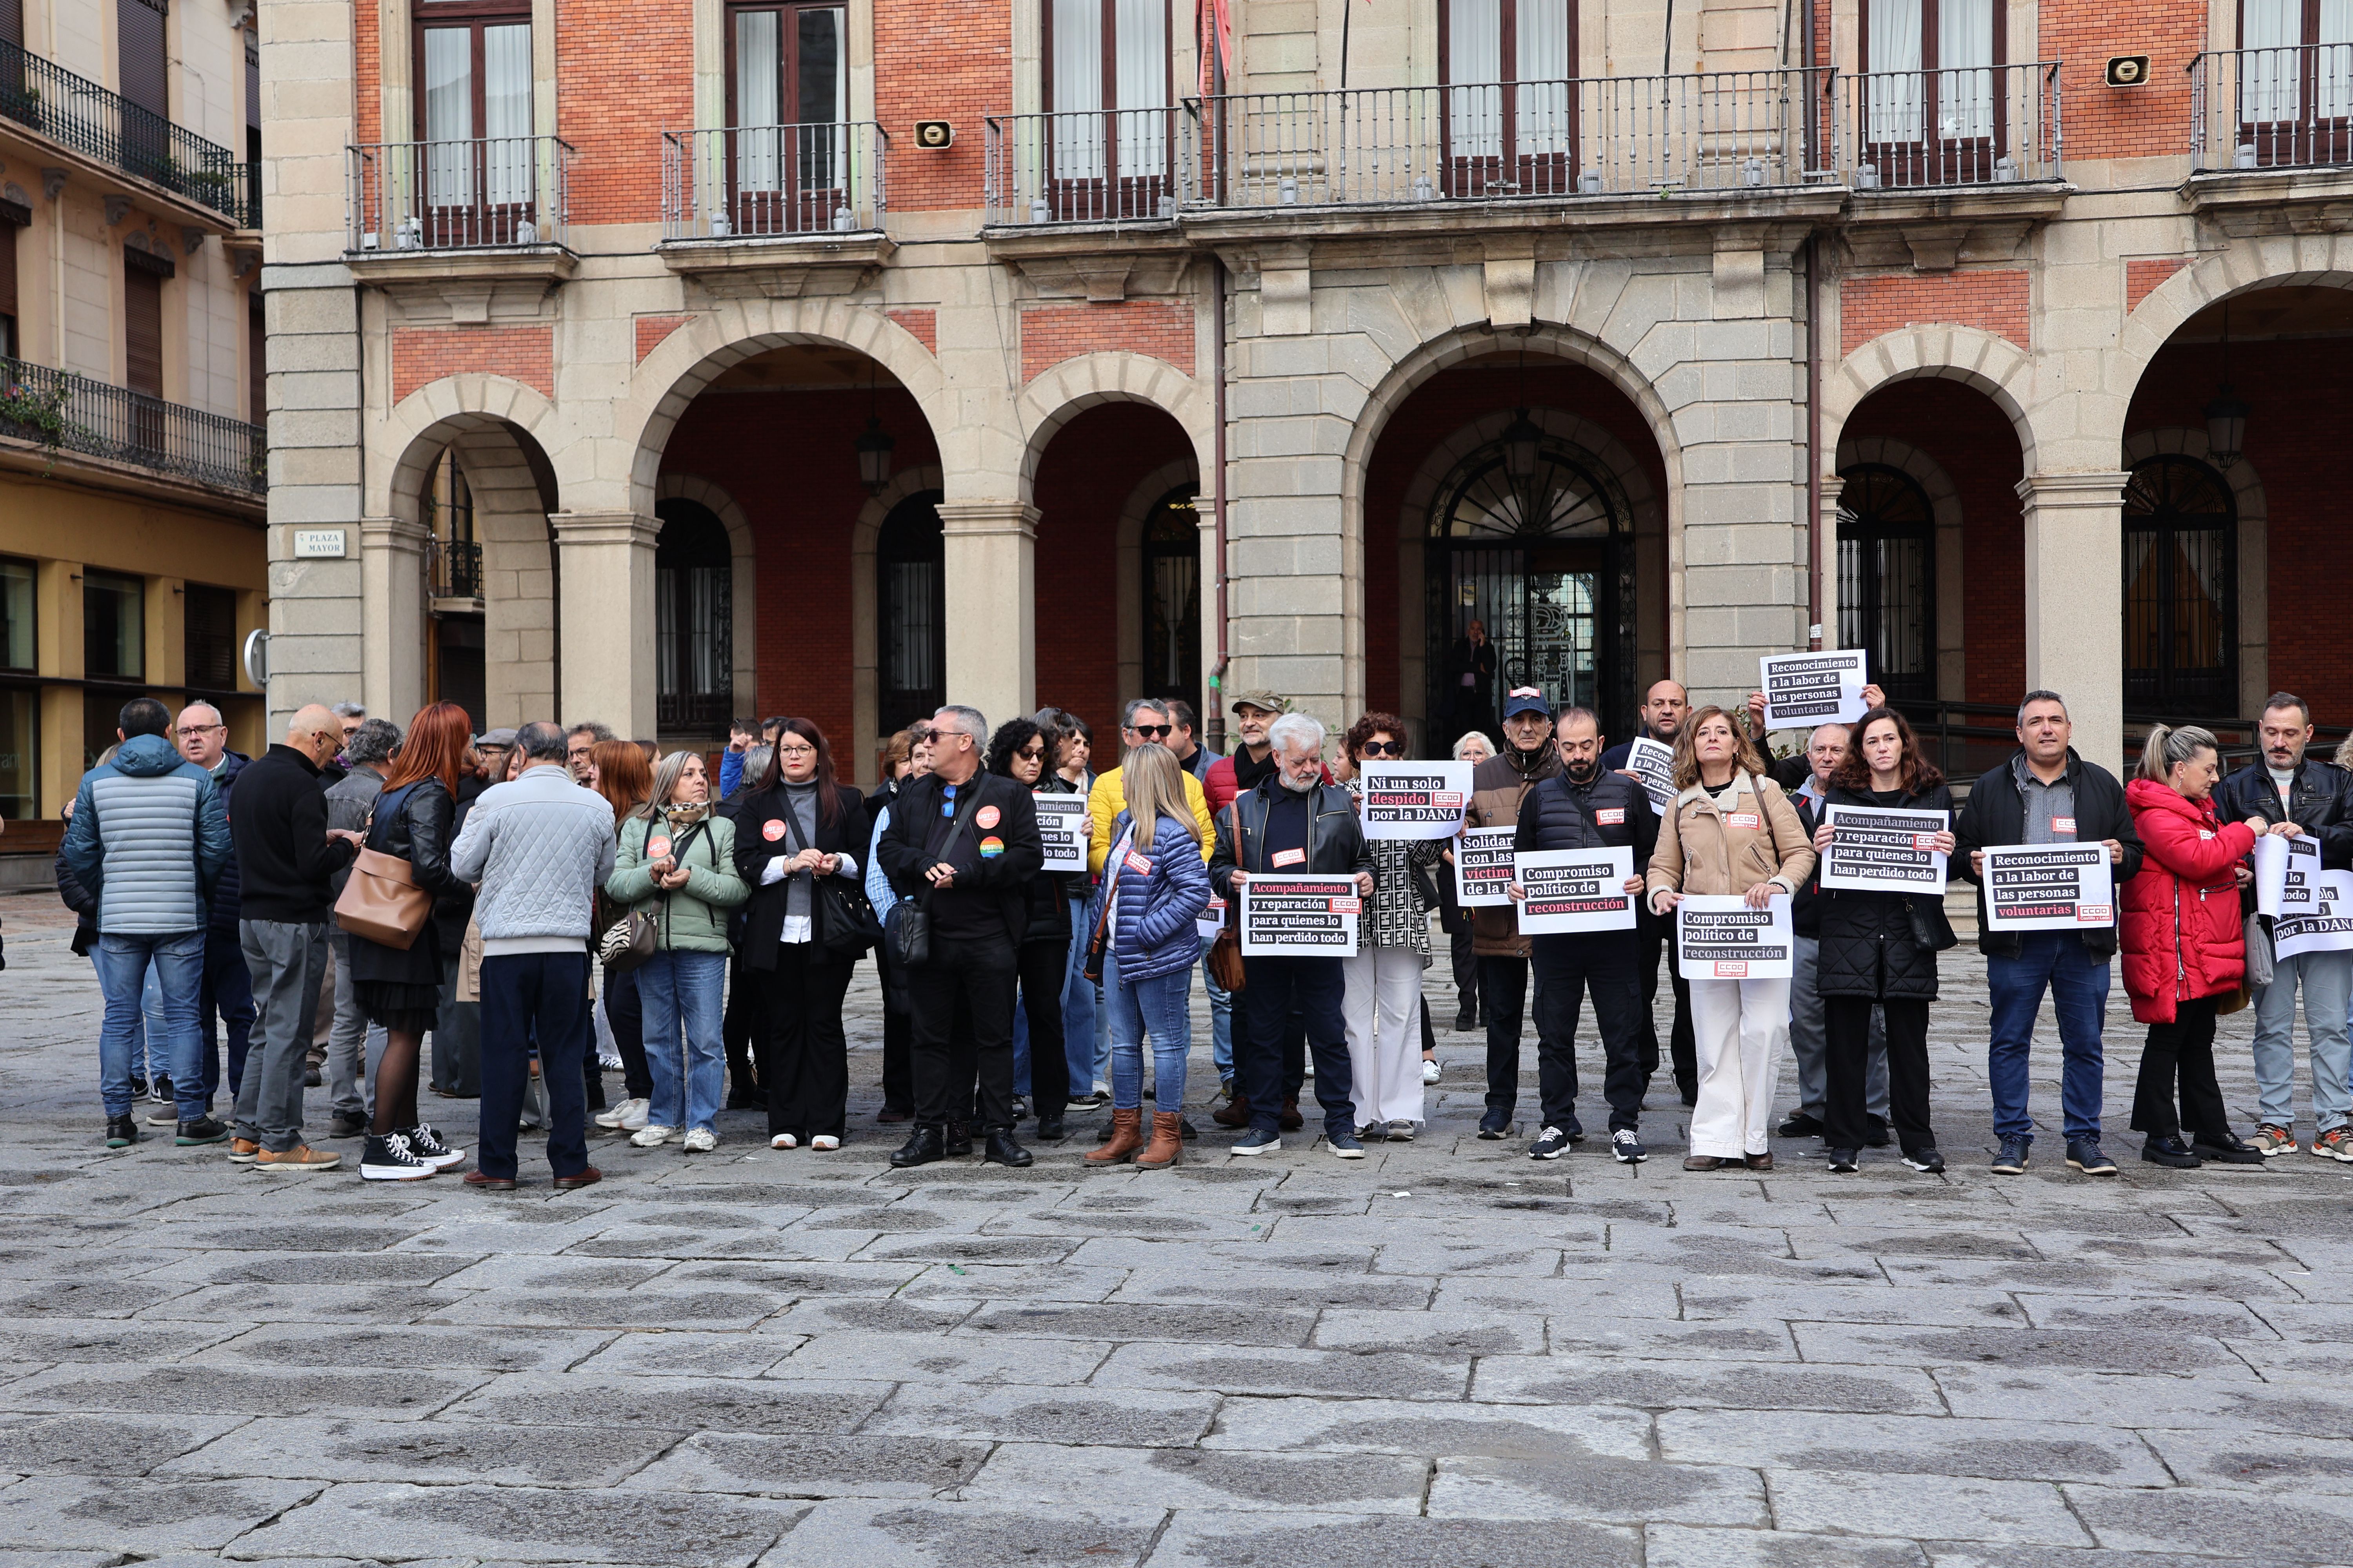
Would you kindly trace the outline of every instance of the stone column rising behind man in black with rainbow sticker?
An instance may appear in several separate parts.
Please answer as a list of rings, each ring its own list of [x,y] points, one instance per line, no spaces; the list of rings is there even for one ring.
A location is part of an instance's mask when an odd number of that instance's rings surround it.
[[[948,701],[991,726],[1038,708],[1038,508],[941,501]]]

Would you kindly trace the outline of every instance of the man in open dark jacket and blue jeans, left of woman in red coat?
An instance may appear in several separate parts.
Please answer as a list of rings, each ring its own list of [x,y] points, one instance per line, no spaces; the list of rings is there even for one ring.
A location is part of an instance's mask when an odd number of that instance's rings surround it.
[[[2059,1112],[2066,1161],[2085,1175],[2115,1175],[2099,1147],[2101,1025],[2108,1018],[2108,959],[2115,957],[2115,910],[2082,931],[1993,931],[1986,922],[1988,844],[2106,844],[2115,882],[2141,870],[2141,839],[2115,773],[2068,745],[2073,724],[2057,691],[2019,701],[2019,752],[1984,773],[1953,823],[1955,872],[1977,882],[1977,950],[1986,954],[1986,1086],[1993,1091],[1993,1168],[2026,1171],[2035,1124],[2026,1114],[2026,1067],[2045,987],[2059,1020]],[[1967,870],[1960,870],[1967,865]]]

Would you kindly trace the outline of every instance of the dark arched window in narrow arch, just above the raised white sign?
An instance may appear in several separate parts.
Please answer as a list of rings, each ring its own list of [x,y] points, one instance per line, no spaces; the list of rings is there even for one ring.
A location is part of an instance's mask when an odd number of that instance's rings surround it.
[[[1838,646],[1871,654],[1892,698],[1937,696],[1937,515],[1899,468],[1859,463],[1838,489]]]

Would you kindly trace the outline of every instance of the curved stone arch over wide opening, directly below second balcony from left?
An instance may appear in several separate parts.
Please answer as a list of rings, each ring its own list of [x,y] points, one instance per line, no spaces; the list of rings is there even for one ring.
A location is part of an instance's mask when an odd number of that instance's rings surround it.
[[[628,376],[628,395],[612,404],[612,444],[621,461],[598,463],[595,491],[612,510],[649,512],[661,475],[661,451],[687,407],[725,369],[788,343],[833,343],[880,364],[915,400],[951,501],[1009,496],[1021,470],[1021,440],[986,416],[986,402],[958,402],[932,350],[880,310],[842,299],[729,299],[696,313],[661,339]],[[605,447],[607,442],[581,442]]]

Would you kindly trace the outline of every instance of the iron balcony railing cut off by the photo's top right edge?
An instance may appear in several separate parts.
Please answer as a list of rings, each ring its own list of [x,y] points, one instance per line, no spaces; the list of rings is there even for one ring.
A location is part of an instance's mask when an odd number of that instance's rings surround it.
[[[2191,61],[2191,172],[2353,165],[2353,42]]]

